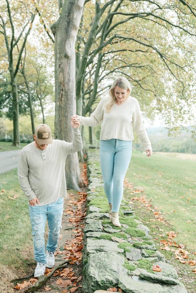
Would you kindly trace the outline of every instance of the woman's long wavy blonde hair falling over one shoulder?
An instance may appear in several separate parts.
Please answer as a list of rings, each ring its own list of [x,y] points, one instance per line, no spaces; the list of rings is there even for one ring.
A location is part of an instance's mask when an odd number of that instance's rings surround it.
[[[116,97],[114,94],[114,88],[116,86],[119,86],[119,88],[123,88],[124,90],[127,90],[127,96],[125,99],[127,99],[130,96],[131,93],[131,85],[130,82],[124,77],[120,76],[115,79],[113,84],[111,85],[111,88],[109,89],[109,95],[112,98],[111,101],[106,105],[106,112],[110,112],[111,108],[116,103]]]

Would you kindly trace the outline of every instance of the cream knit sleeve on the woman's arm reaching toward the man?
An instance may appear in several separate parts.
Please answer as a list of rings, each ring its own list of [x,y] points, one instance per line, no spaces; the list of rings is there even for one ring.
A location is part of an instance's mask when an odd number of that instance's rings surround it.
[[[104,98],[98,103],[97,108],[90,117],[80,116],[80,124],[95,127],[101,123],[104,114]]]

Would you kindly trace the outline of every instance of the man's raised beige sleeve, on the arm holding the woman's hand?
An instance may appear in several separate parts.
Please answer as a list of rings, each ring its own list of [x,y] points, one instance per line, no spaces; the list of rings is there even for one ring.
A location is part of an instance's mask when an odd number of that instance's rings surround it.
[[[62,141],[62,150],[63,152],[68,155],[68,154],[72,154],[75,153],[77,151],[81,151],[83,148],[82,145],[82,137],[81,137],[81,133],[79,128],[72,128],[72,132],[73,132],[73,140],[72,142],[65,142]]]

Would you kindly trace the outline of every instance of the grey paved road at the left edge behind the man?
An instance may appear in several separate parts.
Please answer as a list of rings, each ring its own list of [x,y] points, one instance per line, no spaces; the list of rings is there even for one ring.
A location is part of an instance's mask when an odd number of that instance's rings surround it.
[[[20,149],[0,152],[0,174],[18,166]]]

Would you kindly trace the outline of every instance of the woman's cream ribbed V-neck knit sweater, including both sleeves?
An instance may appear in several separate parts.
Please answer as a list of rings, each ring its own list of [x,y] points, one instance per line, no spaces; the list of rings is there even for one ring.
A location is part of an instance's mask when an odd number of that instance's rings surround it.
[[[132,141],[134,139],[134,129],[145,150],[152,149],[141,119],[138,100],[129,96],[123,104],[115,104],[110,112],[107,113],[105,105],[110,100],[110,96],[104,97],[90,117],[80,116],[81,125],[94,127],[103,121],[101,124],[100,140],[115,138]]]

